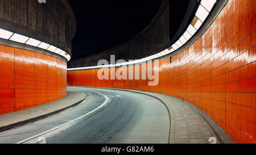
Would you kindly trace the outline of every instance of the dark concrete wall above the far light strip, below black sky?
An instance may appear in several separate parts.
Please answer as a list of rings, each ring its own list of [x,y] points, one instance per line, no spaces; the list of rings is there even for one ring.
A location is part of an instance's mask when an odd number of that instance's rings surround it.
[[[124,59],[128,61],[129,59],[139,59],[168,48],[170,40],[168,5],[168,0],[164,0],[151,23],[130,41],[109,49],[108,51],[98,53],[97,55],[70,61],[68,68],[94,66],[97,65],[97,62],[101,59],[110,62],[110,55],[115,55],[116,60]]]

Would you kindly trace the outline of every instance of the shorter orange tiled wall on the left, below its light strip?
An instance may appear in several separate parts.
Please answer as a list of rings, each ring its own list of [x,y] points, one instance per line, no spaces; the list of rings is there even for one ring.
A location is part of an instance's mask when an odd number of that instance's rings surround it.
[[[49,103],[67,95],[67,62],[0,45],[0,114]]]

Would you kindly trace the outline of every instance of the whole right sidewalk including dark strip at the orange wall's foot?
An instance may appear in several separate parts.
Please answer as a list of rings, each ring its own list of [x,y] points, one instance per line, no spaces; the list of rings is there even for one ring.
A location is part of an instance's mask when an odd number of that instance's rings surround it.
[[[95,87],[99,88],[99,87]],[[101,89],[112,89],[103,88]],[[207,114],[185,100],[169,95],[139,90],[123,90],[150,95],[159,99],[169,110],[171,118],[170,144],[210,144],[209,138],[216,137],[217,144],[232,144],[233,141]]]

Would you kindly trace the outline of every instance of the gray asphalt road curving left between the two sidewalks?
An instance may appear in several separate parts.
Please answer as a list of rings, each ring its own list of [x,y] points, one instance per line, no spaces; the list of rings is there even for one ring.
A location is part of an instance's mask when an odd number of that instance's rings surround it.
[[[120,90],[68,89],[86,94],[84,102],[36,122],[0,132],[0,143],[168,143],[170,118],[159,100]]]

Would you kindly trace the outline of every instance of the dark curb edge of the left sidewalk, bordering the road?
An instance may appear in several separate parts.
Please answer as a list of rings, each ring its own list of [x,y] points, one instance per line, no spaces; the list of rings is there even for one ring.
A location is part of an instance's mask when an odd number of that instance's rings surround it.
[[[82,94],[84,94],[84,93],[82,93]],[[4,125],[4,126],[0,127],[0,132],[9,130],[9,129],[14,128],[14,127],[18,127],[18,126],[20,126],[20,125],[24,125],[24,124],[28,124],[28,123],[31,123],[31,122],[35,122],[36,120],[43,119],[43,118],[47,118],[48,116],[57,114],[57,113],[59,113],[59,112],[61,112],[61,111],[63,111],[63,110],[66,110],[66,109],[68,109],[68,108],[77,106],[77,104],[83,102],[83,101],[85,100],[85,98],[86,98],[86,95],[84,94],[84,98],[82,98],[82,99],[79,100],[78,102],[75,102],[74,104],[71,104],[70,106],[61,108],[61,109],[56,110],[56,111],[53,111],[53,112],[49,112],[48,114],[44,114],[44,115],[36,116],[36,117],[34,117],[34,118],[26,119],[26,120],[23,120],[23,121],[20,121],[20,122],[16,122],[16,123]],[[56,100],[56,101],[57,101],[57,100]],[[54,102],[56,102],[56,101],[54,101]],[[50,103],[51,103],[51,102],[50,102]],[[49,103],[47,103],[47,104],[49,104]],[[43,105],[43,104],[42,104],[42,105]]]

